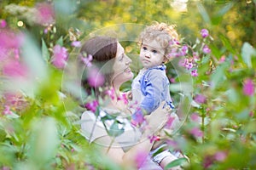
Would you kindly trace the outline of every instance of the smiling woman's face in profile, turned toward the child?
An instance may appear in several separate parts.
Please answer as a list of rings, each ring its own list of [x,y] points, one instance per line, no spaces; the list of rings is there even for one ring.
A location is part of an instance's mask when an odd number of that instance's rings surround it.
[[[121,85],[132,79],[133,73],[130,68],[131,59],[125,55],[125,50],[118,42],[117,53],[113,61],[113,85]]]

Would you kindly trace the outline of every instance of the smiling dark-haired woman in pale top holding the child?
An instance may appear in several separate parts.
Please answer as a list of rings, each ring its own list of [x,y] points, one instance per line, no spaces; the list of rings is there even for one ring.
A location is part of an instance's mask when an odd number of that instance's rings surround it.
[[[166,123],[168,108],[164,103],[147,117],[148,126],[141,131],[129,122],[131,111],[120,92],[120,86],[132,79],[131,59],[125,55],[124,48],[111,37],[94,37],[84,43],[80,54],[91,54],[92,63],[97,65],[99,74],[104,75],[105,82],[101,88],[95,88],[96,97],[102,100],[99,111],[85,111],[82,115],[82,130],[90,142],[102,144],[103,153],[120,165],[136,165],[139,153],[144,153],[141,160],[146,159],[154,142],[148,139]],[[90,68],[92,69],[92,68]],[[97,77],[97,76],[96,76]],[[83,80],[83,82],[86,82]],[[90,85],[91,86],[91,85]],[[108,89],[111,99],[106,97],[102,89]],[[111,93],[113,92],[113,93]],[[98,94],[98,95],[97,95]],[[157,114],[156,114],[157,113]],[[112,118],[109,118],[112,117]],[[143,161],[141,161],[143,162]]]

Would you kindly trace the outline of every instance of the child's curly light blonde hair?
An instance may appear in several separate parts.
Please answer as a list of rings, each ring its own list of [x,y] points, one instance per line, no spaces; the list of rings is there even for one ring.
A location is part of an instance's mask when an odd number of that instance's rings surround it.
[[[177,46],[173,41],[178,41],[179,37],[175,30],[176,25],[168,26],[166,23],[154,22],[153,25],[147,26],[140,34],[139,42],[142,45],[143,41],[157,41],[160,42],[160,46],[165,49],[165,56],[168,59],[168,54],[171,53],[172,48]]]

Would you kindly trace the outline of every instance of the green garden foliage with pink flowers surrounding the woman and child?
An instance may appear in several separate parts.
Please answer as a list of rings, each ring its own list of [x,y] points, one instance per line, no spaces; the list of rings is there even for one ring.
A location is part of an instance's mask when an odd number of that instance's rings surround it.
[[[120,42],[137,59],[138,32],[130,27],[154,20],[177,25],[191,47],[183,59],[190,59],[198,74],[191,76],[188,68],[177,74],[173,65],[180,58],[167,64],[172,98],[183,108],[178,132],[183,138],[172,136],[170,146],[189,156],[187,169],[255,169],[255,0],[0,1],[0,167],[129,168],[99,160],[96,145],[81,135],[84,108],[68,95],[81,92],[66,82],[65,66],[84,37],[107,28],[131,33],[125,36],[132,41]],[[209,36],[201,37],[202,29]],[[189,90],[179,88],[185,82]]]

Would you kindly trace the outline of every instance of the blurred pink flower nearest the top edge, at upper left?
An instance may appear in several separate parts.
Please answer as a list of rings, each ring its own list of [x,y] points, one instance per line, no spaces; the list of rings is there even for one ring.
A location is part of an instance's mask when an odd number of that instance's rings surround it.
[[[37,5],[37,23],[45,26],[55,22],[54,8],[49,3],[38,3]]]

